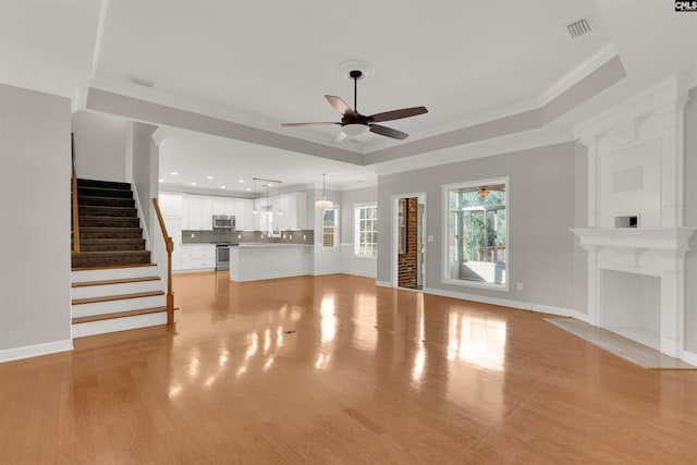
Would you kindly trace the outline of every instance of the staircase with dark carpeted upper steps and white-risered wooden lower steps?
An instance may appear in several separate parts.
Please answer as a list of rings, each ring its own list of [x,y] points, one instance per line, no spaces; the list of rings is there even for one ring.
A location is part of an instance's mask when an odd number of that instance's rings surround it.
[[[73,338],[167,323],[131,184],[77,180],[81,253],[72,257]]]

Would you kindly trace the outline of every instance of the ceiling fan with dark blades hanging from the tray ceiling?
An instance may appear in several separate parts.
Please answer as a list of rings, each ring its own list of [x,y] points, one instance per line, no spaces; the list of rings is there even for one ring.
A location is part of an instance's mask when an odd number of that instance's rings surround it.
[[[358,79],[363,76],[363,72],[354,70],[348,73],[348,76],[353,79],[353,109],[341,97],[334,95],[326,95],[325,98],[329,103],[334,107],[334,110],[341,114],[341,122],[317,122],[317,123],[283,123],[282,126],[307,126],[313,124],[339,124],[341,125],[341,132],[334,136],[331,140],[332,144],[338,144],[345,139],[347,136],[357,136],[366,131],[379,134],[386,137],[392,137],[395,139],[404,139],[408,137],[408,134],[403,133],[392,127],[383,126],[383,121],[400,120],[402,118],[416,117],[417,114],[428,113],[426,107],[413,107],[402,108],[400,110],[386,111],[382,113],[371,114],[369,117],[358,113]]]

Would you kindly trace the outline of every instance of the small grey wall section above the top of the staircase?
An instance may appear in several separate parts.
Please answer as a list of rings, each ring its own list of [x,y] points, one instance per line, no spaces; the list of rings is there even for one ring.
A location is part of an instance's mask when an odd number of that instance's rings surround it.
[[[126,176],[129,124],[123,118],[94,111],[73,114],[78,178],[130,182]]]

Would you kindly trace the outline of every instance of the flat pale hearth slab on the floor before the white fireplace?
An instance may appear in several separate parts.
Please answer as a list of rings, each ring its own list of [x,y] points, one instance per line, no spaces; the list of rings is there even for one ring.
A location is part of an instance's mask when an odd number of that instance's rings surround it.
[[[586,341],[644,368],[697,369],[694,365],[689,365],[688,363],[678,360],[677,358],[669,357],[655,348],[634,342],[631,339],[623,338],[612,331],[596,328],[583,321],[571,318],[546,319],[552,325],[557,325],[572,334],[585,339]]]

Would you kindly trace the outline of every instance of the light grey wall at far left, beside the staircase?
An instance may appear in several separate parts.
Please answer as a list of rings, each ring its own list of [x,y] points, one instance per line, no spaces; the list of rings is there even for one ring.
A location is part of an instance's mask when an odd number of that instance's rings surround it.
[[[0,362],[72,348],[70,99],[0,85]]]

